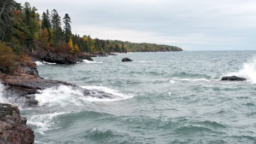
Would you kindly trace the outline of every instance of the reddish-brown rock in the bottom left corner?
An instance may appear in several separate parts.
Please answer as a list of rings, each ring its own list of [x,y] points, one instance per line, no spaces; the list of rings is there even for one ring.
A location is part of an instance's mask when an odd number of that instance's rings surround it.
[[[0,143],[33,143],[34,131],[26,122],[17,106],[0,103]]]

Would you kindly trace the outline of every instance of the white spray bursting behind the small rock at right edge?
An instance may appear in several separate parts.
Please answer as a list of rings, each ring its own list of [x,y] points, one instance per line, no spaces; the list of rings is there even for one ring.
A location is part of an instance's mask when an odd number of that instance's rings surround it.
[[[253,58],[252,62],[244,63],[243,68],[238,72],[229,73],[226,76],[238,76],[246,78],[249,82],[256,83],[256,56]]]

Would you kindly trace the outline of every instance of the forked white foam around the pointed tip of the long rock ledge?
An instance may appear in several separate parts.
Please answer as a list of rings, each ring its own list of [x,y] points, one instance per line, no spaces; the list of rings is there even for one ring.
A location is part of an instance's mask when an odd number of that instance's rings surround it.
[[[97,98],[97,97],[83,97],[84,100],[89,101],[89,102],[110,102],[110,101],[117,101],[117,100],[124,100],[124,99],[130,99],[133,98],[133,95],[124,95],[123,93],[118,92],[117,90],[114,89],[110,89],[107,87],[103,87],[103,86],[82,86],[82,88],[86,88],[89,89],[91,91],[103,91],[106,93],[110,93],[113,94],[112,98]]]

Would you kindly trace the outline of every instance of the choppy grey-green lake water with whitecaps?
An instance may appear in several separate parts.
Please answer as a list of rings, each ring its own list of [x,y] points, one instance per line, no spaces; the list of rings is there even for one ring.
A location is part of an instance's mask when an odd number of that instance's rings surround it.
[[[115,99],[83,97],[60,86],[37,94],[40,106],[21,114],[35,143],[256,143],[254,56],[256,51],[149,52],[73,65],[38,63],[45,79]],[[122,63],[123,57],[134,62]],[[225,75],[248,81],[219,81]]]

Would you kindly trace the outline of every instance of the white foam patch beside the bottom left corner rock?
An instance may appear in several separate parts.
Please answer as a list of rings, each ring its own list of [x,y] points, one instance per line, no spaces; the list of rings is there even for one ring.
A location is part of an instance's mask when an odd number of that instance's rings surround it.
[[[37,128],[34,131],[44,134],[44,131],[57,129],[58,125],[53,121],[53,119],[59,115],[66,114],[67,112],[55,112],[50,114],[43,115],[27,115],[27,124],[36,126]]]

